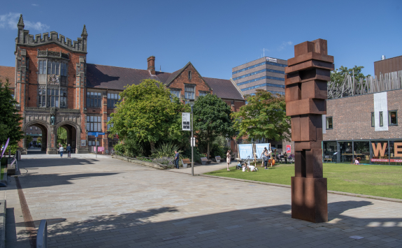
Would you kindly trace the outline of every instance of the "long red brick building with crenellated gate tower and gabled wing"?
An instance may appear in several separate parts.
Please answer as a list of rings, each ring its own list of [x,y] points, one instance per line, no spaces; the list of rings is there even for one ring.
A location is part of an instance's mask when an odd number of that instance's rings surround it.
[[[215,94],[236,111],[245,100],[231,80],[203,77],[191,62],[173,73],[155,71],[155,57],[147,59],[147,69],[87,64],[87,29],[77,41],[55,31],[33,36],[24,30],[22,15],[15,39],[15,68],[0,66],[0,77],[9,78],[24,120],[22,130],[38,126],[42,149],[57,154],[57,129],[67,131],[67,143],[76,153],[87,153],[95,145],[88,131],[106,133],[98,137],[99,146],[112,147],[117,140],[107,138],[107,122],[118,94],[126,85],[141,80],[163,82],[182,101]],[[145,67],[145,59],[144,59]],[[26,152],[25,140],[20,148]],[[236,147],[236,145],[232,145]]]

